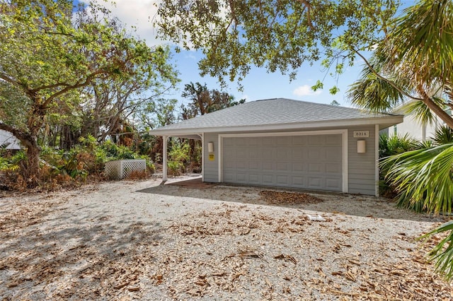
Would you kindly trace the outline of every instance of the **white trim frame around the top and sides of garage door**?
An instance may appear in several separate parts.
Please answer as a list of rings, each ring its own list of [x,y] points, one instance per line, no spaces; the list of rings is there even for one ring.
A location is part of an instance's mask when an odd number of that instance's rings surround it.
[[[238,137],[278,137],[278,136],[308,136],[308,135],[342,135],[342,182],[343,192],[348,193],[348,129],[331,129],[323,131],[285,131],[276,133],[245,133],[245,134],[219,134],[219,182],[223,182],[223,139],[238,138]]]

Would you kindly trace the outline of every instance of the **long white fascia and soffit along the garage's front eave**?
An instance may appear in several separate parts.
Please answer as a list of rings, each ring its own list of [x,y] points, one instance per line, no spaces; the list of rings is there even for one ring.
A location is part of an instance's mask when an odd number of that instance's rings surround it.
[[[349,126],[364,126],[379,124],[379,129],[386,129],[389,126],[403,122],[403,115],[390,115],[389,117],[378,117],[369,119],[342,119],[328,120],[321,122],[302,122],[294,124],[260,124],[253,126],[221,126],[209,128],[187,128],[187,129],[154,129],[149,134],[154,136],[174,136],[179,138],[190,138],[200,140],[202,133],[244,133],[253,131],[295,131],[326,128],[345,128]]]

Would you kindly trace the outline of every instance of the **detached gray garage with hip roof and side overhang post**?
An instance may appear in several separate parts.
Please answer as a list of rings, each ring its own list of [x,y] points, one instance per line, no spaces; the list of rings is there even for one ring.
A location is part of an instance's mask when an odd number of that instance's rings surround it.
[[[402,115],[285,98],[256,100],[150,131],[202,140],[202,180],[378,195],[379,130]],[[164,180],[166,147],[164,147]]]

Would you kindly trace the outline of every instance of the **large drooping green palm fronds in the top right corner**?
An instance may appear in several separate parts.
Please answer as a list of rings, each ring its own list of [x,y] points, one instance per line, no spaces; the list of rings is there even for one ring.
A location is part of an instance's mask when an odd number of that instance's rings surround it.
[[[411,70],[416,82],[443,86],[452,78],[452,20],[451,0],[421,1],[396,20],[389,38],[397,42],[398,59],[405,62],[401,67]]]

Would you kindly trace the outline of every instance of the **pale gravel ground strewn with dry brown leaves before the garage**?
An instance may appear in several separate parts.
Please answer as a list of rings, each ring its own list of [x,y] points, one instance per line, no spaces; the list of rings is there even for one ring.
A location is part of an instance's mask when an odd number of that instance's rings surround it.
[[[443,218],[181,179],[1,195],[0,299],[453,299],[417,240]]]

